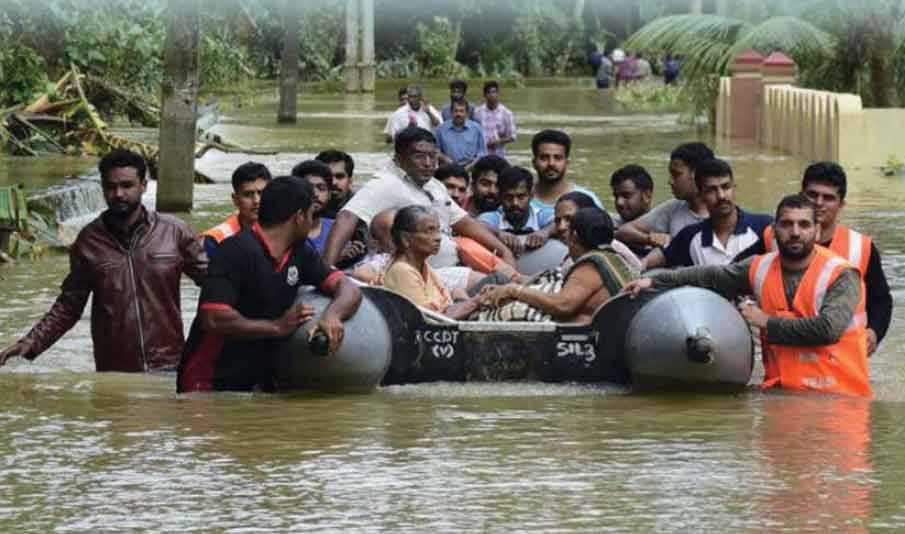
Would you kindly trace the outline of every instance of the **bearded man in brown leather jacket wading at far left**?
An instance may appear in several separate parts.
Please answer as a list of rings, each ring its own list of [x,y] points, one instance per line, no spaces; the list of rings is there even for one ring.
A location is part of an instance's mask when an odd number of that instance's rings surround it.
[[[69,275],[53,307],[0,352],[0,365],[47,350],[78,321],[94,293],[91,338],[98,371],[176,368],[185,343],[179,279],[184,272],[200,284],[207,256],[183,221],[142,206],[148,182],[141,156],[114,150],[99,168],[108,209],[76,238]]]

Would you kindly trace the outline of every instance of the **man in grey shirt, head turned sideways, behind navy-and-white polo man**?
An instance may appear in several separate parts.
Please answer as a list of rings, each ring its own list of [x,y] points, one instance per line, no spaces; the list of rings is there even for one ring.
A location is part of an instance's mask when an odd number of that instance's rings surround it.
[[[698,163],[713,159],[704,143],[685,143],[669,155],[669,186],[675,198],[660,203],[616,230],[616,239],[630,246],[662,247],[686,226],[707,218],[707,206],[695,186]]]

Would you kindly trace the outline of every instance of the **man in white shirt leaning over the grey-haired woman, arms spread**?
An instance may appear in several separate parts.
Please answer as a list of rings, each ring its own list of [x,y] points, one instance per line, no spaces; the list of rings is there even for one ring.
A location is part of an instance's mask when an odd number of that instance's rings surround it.
[[[446,186],[434,178],[437,169],[437,139],[424,128],[406,128],[395,138],[393,162],[374,174],[339,212],[327,243],[324,261],[333,265],[343,246],[352,236],[358,221],[371,219],[386,209],[419,205],[430,208],[440,218],[443,241],[440,252],[428,261],[432,267],[449,267],[458,263],[458,251],[452,232],[470,237],[488,250],[496,251],[503,261],[515,264],[515,257],[483,224],[453,202]]]

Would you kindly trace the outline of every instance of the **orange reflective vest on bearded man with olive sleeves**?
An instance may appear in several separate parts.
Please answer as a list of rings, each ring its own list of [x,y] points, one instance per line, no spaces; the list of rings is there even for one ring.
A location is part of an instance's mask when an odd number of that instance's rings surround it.
[[[779,253],[754,258],[748,271],[748,281],[767,315],[790,319],[816,317],[829,287],[845,269],[852,268],[850,263],[824,247],[815,246],[814,251],[791,306],[786,301]],[[852,320],[842,336],[831,345],[775,345],[768,343],[766,332],[762,332],[763,387],[870,396],[866,325],[862,283]]]

